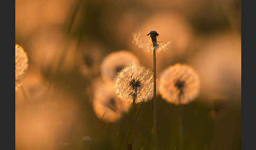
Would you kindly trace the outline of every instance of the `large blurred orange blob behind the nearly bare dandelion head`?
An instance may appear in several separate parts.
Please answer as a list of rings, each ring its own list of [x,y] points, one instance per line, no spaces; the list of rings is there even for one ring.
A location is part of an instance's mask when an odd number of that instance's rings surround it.
[[[157,30],[159,34],[157,41],[161,41],[159,42],[160,49],[157,51],[165,51],[164,53],[169,59],[170,57],[176,57],[186,52],[186,48],[193,39],[192,28],[184,16],[169,11],[157,12],[134,29],[142,33],[137,37],[137,43],[143,47],[142,49],[144,51],[152,52],[152,42],[150,38],[140,37],[149,34],[152,29]]]

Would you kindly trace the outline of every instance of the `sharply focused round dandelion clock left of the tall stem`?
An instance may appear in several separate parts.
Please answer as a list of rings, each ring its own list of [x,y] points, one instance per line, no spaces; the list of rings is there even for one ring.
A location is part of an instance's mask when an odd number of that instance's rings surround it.
[[[134,96],[136,103],[147,101],[152,97],[153,72],[131,64],[116,76],[115,89],[117,96],[124,101],[132,103]]]

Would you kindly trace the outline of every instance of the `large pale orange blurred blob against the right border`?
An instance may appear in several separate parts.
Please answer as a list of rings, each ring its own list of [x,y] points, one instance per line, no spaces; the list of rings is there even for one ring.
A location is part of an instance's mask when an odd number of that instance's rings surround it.
[[[203,97],[208,98],[211,94],[240,97],[240,35],[225,33],[203,40],[200,51],[194,53],[189,62],[199,73]]]

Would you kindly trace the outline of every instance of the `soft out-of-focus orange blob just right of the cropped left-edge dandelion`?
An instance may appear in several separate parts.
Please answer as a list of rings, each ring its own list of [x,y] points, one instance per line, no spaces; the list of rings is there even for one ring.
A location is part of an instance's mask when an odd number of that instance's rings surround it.
[[[38,30],[28,41],[33,65],[41,70],[56,69],[64,49],[65,36],[61,30],[44,28]]]

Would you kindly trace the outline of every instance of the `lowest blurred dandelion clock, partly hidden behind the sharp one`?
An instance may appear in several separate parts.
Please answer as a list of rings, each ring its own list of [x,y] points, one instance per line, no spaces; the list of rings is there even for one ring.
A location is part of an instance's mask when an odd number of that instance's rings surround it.
[[[129,111],[131,105],[116,97],[112,82],[98,84],[94,90],[93,109],[99,119],[114,122]]]

